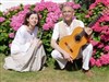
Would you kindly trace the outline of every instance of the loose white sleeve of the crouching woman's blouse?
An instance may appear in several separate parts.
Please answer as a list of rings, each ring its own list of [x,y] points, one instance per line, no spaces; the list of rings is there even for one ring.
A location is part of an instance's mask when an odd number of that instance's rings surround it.
[[[11,54],[26,52],[31,46],[31,42],[25,38],[27,35],[23,28],[16,32],[15,38],[12,42]]]

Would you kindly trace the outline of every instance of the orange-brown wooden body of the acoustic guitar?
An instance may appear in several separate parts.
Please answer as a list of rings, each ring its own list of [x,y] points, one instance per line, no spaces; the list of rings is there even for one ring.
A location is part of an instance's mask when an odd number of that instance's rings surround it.
[[[69,52],[72,59],[75,59],[77,57],[81,47],[87,43],[86,36],[82,36],[80,40],[75,39],[76,35],[78,35],[82,32],[83,32],[83,28],[78,26],[74,30],[74,32],[71,35],[64,36],[59,42],[59,46],[63,50]]]

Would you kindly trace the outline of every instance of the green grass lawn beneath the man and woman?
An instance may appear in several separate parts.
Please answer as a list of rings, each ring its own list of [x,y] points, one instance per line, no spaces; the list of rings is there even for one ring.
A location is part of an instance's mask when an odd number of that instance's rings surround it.
[[[48,66],[38,72],[15,72],[4,70],[4,55],[0,55],[0,82],[109,82],[109,67],[92,68],[94,77],[88,78],[81,70],[55,70]]]

